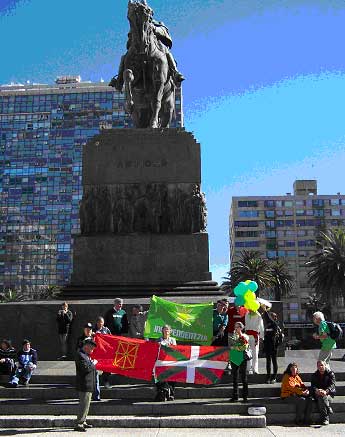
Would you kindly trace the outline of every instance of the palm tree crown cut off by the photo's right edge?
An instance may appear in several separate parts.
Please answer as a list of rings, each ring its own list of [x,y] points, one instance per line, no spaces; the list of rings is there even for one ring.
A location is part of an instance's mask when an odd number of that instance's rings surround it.
[[[306,263],[309,283],[316,293],[333,303],[345,294],[345,230],[329,229],[320,232],[319,251]]]

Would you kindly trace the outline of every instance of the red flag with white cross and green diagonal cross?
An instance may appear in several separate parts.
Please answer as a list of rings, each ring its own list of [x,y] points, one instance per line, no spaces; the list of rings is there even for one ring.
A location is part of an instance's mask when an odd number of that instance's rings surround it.
[[[162,346],[154,368],[157,381],[216,384],[229,361],[229,348]]]

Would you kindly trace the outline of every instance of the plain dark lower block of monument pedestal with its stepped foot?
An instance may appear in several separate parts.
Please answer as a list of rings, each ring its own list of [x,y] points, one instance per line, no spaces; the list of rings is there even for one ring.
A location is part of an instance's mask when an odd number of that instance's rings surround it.
[[[104,234],[74,240],[66,298],[219,294],[208,234]]]

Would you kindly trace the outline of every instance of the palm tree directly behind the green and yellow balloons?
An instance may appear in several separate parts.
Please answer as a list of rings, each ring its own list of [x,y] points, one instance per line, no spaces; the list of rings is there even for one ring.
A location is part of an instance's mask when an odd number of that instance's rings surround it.
[[[240,259],[233,263],[225,279],[226,281],[222,284],[223,290],[232,290],[239,282],[247,279],[255,281],[259,286],[259,291],[264,290],[272,284],[270,264],[261,257],[260,252],[243,250]]]

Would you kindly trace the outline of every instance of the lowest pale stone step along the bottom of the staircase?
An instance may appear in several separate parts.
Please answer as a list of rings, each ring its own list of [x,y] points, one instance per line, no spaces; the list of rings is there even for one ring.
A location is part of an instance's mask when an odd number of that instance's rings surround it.
[[[113,413],[112,413],[113,414]],[[97,428],[265,428],[265,416],[190,415],[190,416],[88,416]],[[75,416],[11,416],[0,417],[0,428],[72,428]]]

